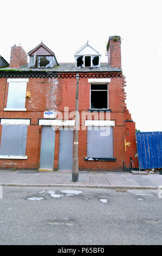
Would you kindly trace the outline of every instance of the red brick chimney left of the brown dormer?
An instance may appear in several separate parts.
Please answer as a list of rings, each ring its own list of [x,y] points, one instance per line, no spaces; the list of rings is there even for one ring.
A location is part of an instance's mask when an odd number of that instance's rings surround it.
[[[11,47],[10,68],[19,68],[20,66],[27,65],[28,56],[21,46]]]

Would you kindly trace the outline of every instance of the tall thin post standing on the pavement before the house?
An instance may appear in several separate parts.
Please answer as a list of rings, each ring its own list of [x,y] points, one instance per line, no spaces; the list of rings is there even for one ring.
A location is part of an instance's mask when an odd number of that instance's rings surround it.
[[[75,130],[74,130],[74,154],[73,154],[73,167],[72,167],[72,181],[78,181],[78,129],[79,129],[79,75],[76,75],[77,89],[76,89],[76,118],[75,118]]]

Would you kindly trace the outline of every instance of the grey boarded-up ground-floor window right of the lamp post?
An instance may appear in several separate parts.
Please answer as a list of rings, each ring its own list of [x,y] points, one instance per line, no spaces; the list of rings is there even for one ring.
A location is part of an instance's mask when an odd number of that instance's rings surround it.
[[[88,126],[88,157],[113,158],[113,127]]]

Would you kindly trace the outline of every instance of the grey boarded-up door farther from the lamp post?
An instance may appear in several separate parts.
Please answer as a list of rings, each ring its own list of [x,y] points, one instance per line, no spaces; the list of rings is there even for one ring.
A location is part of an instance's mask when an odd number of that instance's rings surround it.
[[[42,126],[40,169],[53,169],[55,131],[52,126]]]

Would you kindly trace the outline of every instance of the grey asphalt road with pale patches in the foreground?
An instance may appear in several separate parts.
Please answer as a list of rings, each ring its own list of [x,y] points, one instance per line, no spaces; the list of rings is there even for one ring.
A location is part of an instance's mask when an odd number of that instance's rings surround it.
[[[0,245],[161,245],[157,190],[65,190],[3,187]]]

